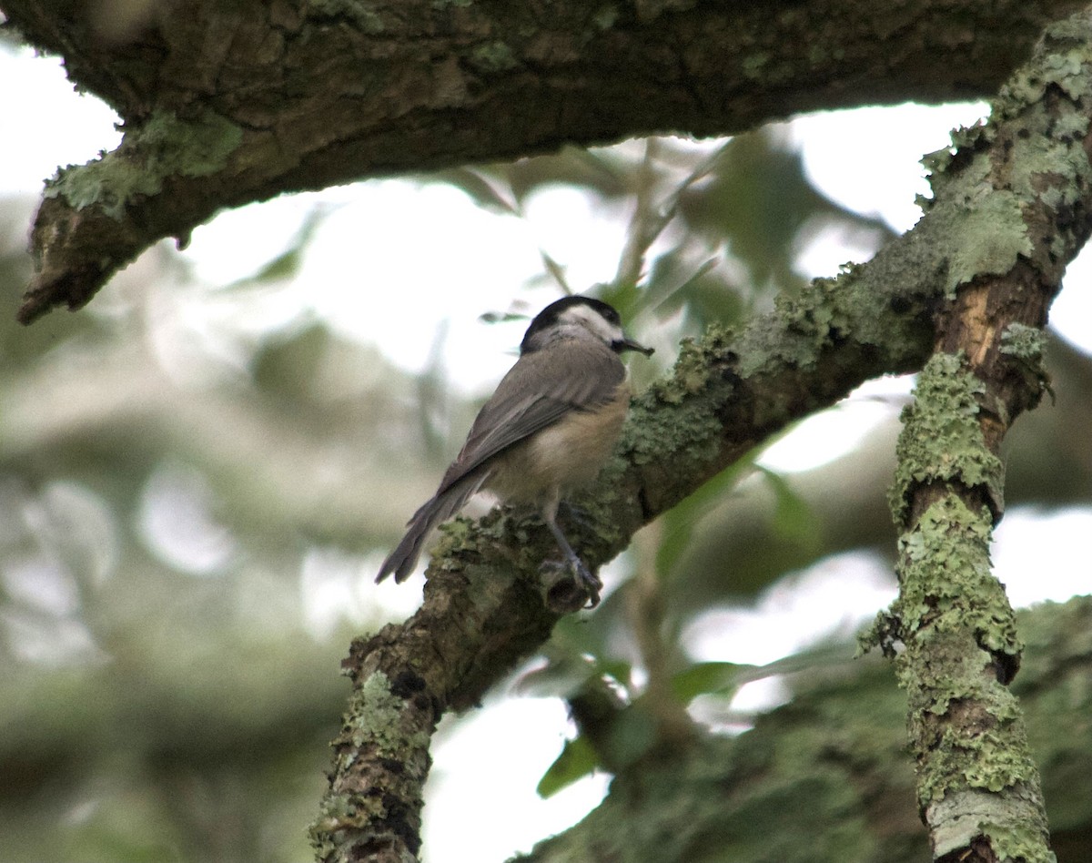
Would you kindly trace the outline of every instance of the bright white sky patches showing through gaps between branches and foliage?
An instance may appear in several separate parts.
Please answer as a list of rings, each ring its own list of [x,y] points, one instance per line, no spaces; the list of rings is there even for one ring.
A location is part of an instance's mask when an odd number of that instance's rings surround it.
[[[0,47],[0,117],[19,130],[0,137],[0,192],[33,199],[57,165],[85,162],[119,140],[110,111],[93,98],[74,95],[56,60]],[[951,128],[974,122],[985,110],[983,104],[963,104],[841,111],[797,119],[791,135],[803,147],[812,179],[828,194],[904,230],[919,215],[915,194],[927,193],[918,159],[947,145]],[[862,152],[854,145],[878,138],[882,147]],[[510,365],[506,352],[518,344],[523,327],[483,327],[476,318],[480,311],[508,307],[513,286],[541,270],[539,247],[567,264],[571,284],[581,285],[614,274],[622,240],[616,220],[595,213],[571,190],[537,194],[526,220],[519,221],[485,213],[452,189],[381,180],[224,213],[194,232],[186,257],[210,284],[250,275],[282,251],[317,203],[335,212],[314,237],[292,288],[295,299],[310,303],[336,329],[377,344],[414,370],[424,366],[437,329],[447,322],[448,374],[467,391],[488,389]],[[420,255],[423,236],[428,237],[427,256]],[[346,267],[346,248],[355,250],[359,268]],[[854,253],[827,238],[807,249],[802,265],[809,275],[833,274]],[[1092,350],[1090,270],[1092,256],[1085,253],[1070,268],[1052,314],[1065,338],[1084,350]],[[553,298],[544,292],[542,305]],[[9,308],[13,314],[10,298]],[[254,317],[270,320],[278,314],[270,308]],[[881,381],[865,392],[905,393],[907,388],[905,380]],[[793,471],[834,458],[889,419],[892,410],[867,398],[852,399],[772,447],[765,463]],[[826,444],[817,446],[817,439]],[[1043,572],[1028,556],[1044,541],[1044,531],[1056,548],[1083,543],[1059,556],[1070,564]],[[1013,601],[1022,605],[1085,592],[1090,533],[1088,509],[1010,512],[997,532],[996,570]],[[412,607],[419,596],[411,586],[400,591],[396,599],[391,596],[394,605]],[[848,606],[847,596],[853,598]],[[697,622],[693,635],[701,659],[769,662],[831,629],[852,630],[890,599],[890,583],[876,561],[826,561],[800,574],[795,583],[779,584],[753,608]],[[829,614],[817,613],[817,606]],[[803,631],[802,619],[826,620],[827,626]],[[741,694],[739,706],[776,698],[775,683],[753,685]],[[534,784],[569,732],[563,707],[557,700],[491,700],[498,702],[492,709],[446,731],[436,754],[425,814],[430,863],[465,860],[466,827],[478,824],[476,860],[503,860],[578,819],[604,792],[605,781],[594,778],[539,801]]]

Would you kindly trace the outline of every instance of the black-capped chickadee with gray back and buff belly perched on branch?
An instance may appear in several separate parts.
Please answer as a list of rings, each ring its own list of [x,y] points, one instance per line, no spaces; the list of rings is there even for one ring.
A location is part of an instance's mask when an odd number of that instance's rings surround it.
[[[603,582],[572,551],[557,525],[561,498],[591,483],[614,449],[629,406],[624,351],[651,347],[628,339],[614,307],[591,297],[551,303],[531,321],[520,358],[471,426],[440,487],[418,509],[376,581],[404,581],[429,531],[454,516],[478,489],[538,507],[543,521],[587,593]]]

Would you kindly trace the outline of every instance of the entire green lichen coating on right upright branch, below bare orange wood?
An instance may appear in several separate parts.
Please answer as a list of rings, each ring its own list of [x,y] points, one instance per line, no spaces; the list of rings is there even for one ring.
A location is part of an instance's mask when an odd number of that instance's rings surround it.
[[[1017,331],[1013,339],[1033,350],[1031,333]],[[895,673],[907,693],[918,804],[935,854],[982,836],[996,853],[1045,861],[1038,775],[1019,704],[1001,682],[1023,646],[990,569],[994,510],[972,508],[965,497],[969,488],[985,488],[1000,507],[1001,464],[978,424],[982,394],[961,356],[937,354],[922,371],[915,403],[904,412],[891,494],[904,528],[900,594],[866,642],[889,655],[897,642],[904,646]],[[909,524],[910,497],[923,486],[935,499]],[[1002,812],[1011,817],[998,820]]]

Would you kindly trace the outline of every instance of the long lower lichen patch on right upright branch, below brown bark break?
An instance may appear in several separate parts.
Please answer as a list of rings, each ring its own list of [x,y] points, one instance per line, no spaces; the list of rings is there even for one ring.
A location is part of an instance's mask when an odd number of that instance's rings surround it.
[[[905,645],[895,671],[923,809],[953,789],[1007,794],[1037,780],[1016,698],[990,671],[995,658],[1022,650],[990,572],[990,523],[988,510],[972,512],[954,494],[933,504],[900,541],[900,596],[877,627],[889,652],[891,639]]]

